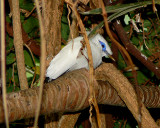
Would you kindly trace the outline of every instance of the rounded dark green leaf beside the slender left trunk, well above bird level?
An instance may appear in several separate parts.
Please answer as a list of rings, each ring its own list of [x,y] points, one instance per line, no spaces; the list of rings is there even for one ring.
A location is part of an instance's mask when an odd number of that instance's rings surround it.
[[[34,17],[28,18],[24,23],[23,23],[23,28],[26,33],[30,33],[33,29],[39,27],[39,22],[38,19]]]

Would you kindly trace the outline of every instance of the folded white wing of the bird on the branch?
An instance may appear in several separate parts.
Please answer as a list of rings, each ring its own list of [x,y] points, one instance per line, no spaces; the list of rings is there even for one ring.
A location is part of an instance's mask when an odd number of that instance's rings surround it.
[[[75,63],[82,47],[80,40],[82,38],[74,39],[74,45],[72,48],[72,41],[68,43],[50,62],[50,65],[46,71],[46,77],[56,79],[67,70],[69,70]]]

